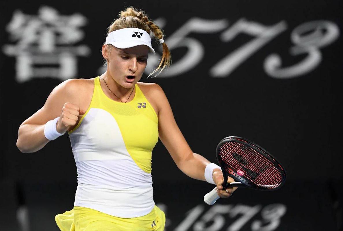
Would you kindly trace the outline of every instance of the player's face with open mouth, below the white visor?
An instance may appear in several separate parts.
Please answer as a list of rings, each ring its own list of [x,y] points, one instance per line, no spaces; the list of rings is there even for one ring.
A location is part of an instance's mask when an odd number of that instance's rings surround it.
[[[121,49],[112,46],[110,52],[106,52],[106,46],[110,45],[103,45],[103,57],[108,60],[107,74],[124,88],[132,88],[145,70],[149,47],[138,45]],[[134,79],[128,79],[127,76],[134,76]]]

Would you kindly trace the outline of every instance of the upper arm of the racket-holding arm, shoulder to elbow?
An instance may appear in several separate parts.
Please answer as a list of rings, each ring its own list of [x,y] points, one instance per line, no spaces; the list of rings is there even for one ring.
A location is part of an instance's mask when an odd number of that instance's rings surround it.
[[[158,86],[158,85],[157,85]],[[185,137],[176,124],[168,99],[160,86],[156,99],[159,99],[158,134],[163,145],[177,165],[192,153]]]

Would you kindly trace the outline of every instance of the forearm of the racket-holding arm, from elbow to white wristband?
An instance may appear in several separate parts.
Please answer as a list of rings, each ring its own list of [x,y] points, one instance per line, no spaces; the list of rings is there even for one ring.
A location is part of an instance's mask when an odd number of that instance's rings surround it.
[[[206,181],[204,172],[206,165],[210,163],[206,158],[198,153],[190,153],[186,159],[178,164],[178,168],[187,176],[197,180]]]

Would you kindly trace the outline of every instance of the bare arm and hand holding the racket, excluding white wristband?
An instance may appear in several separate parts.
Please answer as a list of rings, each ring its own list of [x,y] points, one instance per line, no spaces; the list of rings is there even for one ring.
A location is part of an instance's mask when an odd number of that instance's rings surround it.
[[[170,104],[161,86],[153,84],[152,87],[152,97],[154,99],[158,99],[159,139],[161,139],[163,145],[166,147],[176,165],[182,172],[194,179],[206,181],[204,176],[205,168],[210,161],[191,150],[175,122]],[[218,195],[220,197],[229,197],[231,193],[237,189],[230,188],[227,189],[227,192],[222,190],[223,187],[221,184],[223,183],[224,178],[220,169],[214,169],[210,175],[212,175],[213,181],[219,189]],[[234,180],[229,177],[228,182],[234,182]]]

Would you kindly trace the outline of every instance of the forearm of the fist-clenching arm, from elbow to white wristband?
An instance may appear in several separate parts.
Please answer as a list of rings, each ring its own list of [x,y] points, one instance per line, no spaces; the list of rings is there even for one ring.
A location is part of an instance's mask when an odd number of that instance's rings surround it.
[[[36,152],[50,140],[44,135],[45,124],[24,124],[19,127],[17,147],[21,152]]]

